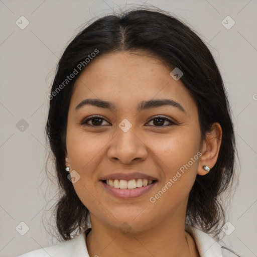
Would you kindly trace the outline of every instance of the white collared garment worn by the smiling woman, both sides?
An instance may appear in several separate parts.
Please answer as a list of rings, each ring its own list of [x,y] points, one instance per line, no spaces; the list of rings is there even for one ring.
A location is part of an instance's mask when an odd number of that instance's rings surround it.
[[[86,232],[78,237],[60,242],[58,244],[33,250],[18,257],[89,257],[86,246]],[[187,226],[186,231],[194,237],[201,257],[235,257],[234,253],[221,247],[210,235],[203,231]]]

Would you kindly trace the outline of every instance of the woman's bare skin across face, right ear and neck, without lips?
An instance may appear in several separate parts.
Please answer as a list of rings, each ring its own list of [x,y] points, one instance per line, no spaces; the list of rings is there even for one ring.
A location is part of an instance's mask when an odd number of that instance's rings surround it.
[[[90,212],[92,231],[86,243],[91,257],[199,256],[194,239],[185,232],[188,195],[196,175],[207,173],[202,166],[215,165],[222,132],[214,123],[201,141],[197,105],[170,72],[158,59],[119,52],[91,61],[75,82],[68,113],[66,165],[80,175],[73,186]],[[111,101],[116,110],[92,105],[75,110],[87,98]],[[185,112],[169,105],[141,112],[136,109],[143,100],[164,98],[180,103]],[[80,124],[91,115],[102,116],[102,122]],[[175,123],[164,120],[159,125],[153,119],[156,115]],[[118,126],[124,118],[132,124],[127,132]],[[201,157],[151,203],[150,197],[199,151]],[[118,199],[99,180],[121,170],[149,174],[158,183],[136,199]],[[123,222],[129,224],[127,234],[119,229]]]

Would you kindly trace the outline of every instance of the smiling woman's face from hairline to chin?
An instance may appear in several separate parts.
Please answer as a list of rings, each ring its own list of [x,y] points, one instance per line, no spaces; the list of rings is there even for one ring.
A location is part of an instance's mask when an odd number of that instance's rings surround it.
[[[157,59],[119,52],[91,61],[76,80],[66,161],[91,222],[134,231],[184,222],[200,165],[200,126],[196,103],[171,71]],[[86,99],[98,104],[80,104]],[[150,177],[157,181],[142,186],[140,178]],[[139,187],[115,189],[107,178]]]

